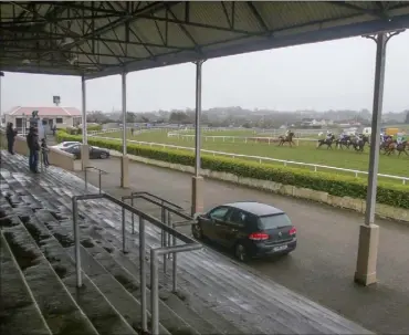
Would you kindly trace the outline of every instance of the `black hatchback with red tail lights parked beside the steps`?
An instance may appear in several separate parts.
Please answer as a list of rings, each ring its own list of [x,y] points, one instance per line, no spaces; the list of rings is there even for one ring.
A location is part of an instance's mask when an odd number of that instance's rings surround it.
[[[242,262],[250,258],[287,254],[296,248],[296,228],[282,210],[259,202],[218,206],[197,218],[197,240],[209,239],[234,251]]]

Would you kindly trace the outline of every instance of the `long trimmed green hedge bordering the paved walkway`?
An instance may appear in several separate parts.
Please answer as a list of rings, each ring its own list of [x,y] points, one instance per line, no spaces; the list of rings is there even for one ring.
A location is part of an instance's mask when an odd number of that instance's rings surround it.
[[[82,140],[81,136],[69,135],[60,130],[57,140]],[[88,137],[88,143],[98,147],[112,150],[122,150],[119,140],[107,140],[102,138]],[[195,166],[195,155],[188,151],[151,148],[147,146],[129,144],[128,154],[162,160],[172,164]],[[366,199],[367,185],[365,179],[357,179],[349,176],[339,176],[329,172],[314,172],[306,169],[293,167],[277,167],[271,164],[259,164],[254,161],[231,159],[226,157],[213,157],[210,155],[201,156],[201,167],[220,172],[230,172],[239,177],[270,180],[284,185],[292,185],[302,188],[310,188],[318,191],[328,192],[337,197],[352,197]],[[390,184],[387,181],[378,182],[377,202],[409,209],[409,187],[405,185]]]

